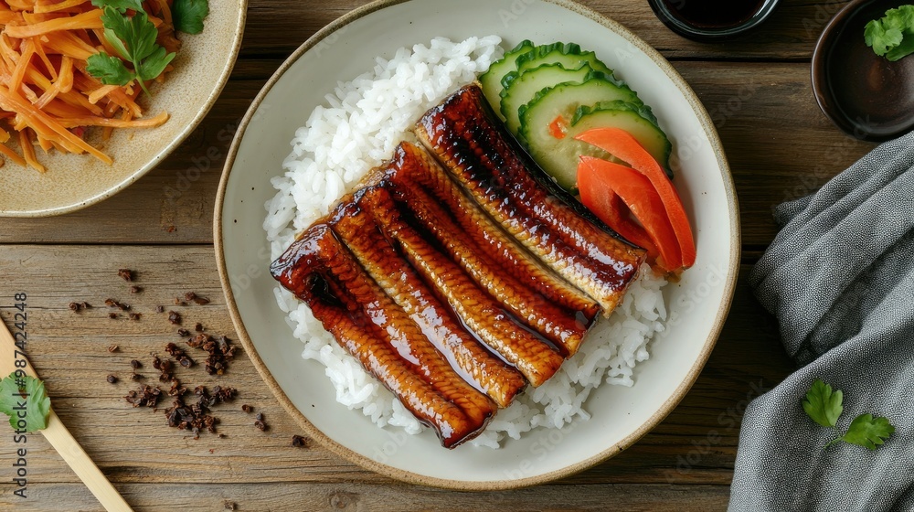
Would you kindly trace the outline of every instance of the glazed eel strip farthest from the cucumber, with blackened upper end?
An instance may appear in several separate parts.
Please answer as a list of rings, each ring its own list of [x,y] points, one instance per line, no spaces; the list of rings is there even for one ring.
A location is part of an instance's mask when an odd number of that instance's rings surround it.
[[[271,265],[283,286],[390,389],[420,421],[454,448],[482,432],[495,404],[466,383],[417,325],[319,222]]]

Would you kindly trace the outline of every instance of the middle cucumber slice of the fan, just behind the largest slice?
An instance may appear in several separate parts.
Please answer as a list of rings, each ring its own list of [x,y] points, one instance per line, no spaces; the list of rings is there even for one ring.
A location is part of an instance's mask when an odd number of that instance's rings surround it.
[[[508,131],[517,134],[520,129],[520,108],[537,95],[537,92],[560,83],[580,83],[590,76],[590,66],[566,69],[558,64],[544,64],[526,71],[512,71],[502,79],[502,117]]]

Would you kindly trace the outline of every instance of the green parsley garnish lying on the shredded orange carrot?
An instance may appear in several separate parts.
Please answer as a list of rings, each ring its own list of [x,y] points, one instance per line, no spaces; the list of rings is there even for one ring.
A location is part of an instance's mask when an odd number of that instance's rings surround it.
[[[155,42],[158,29],[149,21],[142,0],[92,0],[92,5],[102,9],[105,40],[118,55],[104,51],[92,55],[86,61],[86,70],[105,85],[124,86],[136,80],[150,94],[145,82],[161,75],[175,59],[175,53],[168,53]],[[133,16],[128,16],[129,12]],[[175,0],[172,14],[176,30],[198,34],[203,30],[203,18],[209,14],[208,0]]]

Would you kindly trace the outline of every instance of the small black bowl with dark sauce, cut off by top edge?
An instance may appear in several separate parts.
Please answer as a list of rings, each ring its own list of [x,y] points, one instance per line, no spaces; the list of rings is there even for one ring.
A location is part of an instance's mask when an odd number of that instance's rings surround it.
[[[780,0],[648,0],[654,14],[682,37],[714,42],[759,27]]]

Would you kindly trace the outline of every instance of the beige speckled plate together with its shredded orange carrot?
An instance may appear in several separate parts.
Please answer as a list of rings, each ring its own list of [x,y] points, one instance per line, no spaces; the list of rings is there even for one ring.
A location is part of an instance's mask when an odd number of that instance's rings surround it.
[[[175,29],[174,0],[137,1],[141,13],[105,4],[121,3],[0,2],[0,216],[57,215],[111,197],[174,150],[228,80],[247,0],[209,2],[198,34]],[[112,80],[93,69],[93,59],[113,56],[122,72],[142,75],[155,58],[125,57],[105,16],[148,20],[143,55],[168,55],[161,72]]]

